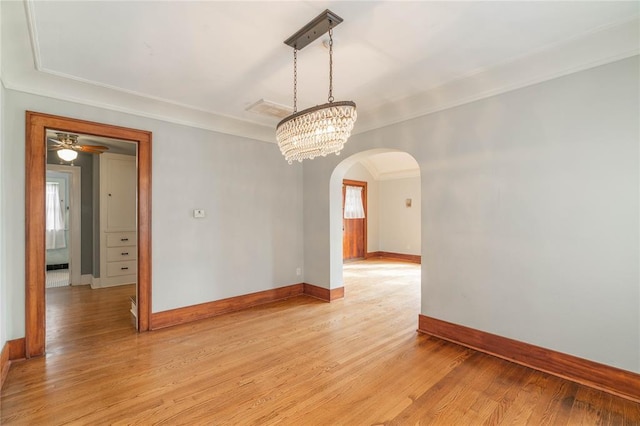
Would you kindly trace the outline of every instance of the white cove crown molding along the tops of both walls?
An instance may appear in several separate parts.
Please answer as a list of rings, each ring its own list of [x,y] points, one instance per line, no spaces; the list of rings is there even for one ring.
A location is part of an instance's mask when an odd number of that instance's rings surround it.
[[[2,82],[5,88],[264,142],[276,142],[273,126],[264,123],[225,116],[43,68],[37,29],[34,28],[33,0],[24,2],[24,11],[22,19],[26,22],[23,24],[15,9],[7,13],[14,13],[15,16],[3,17],[3,21],[9,19],[10,23],[6,31],[9,37],[3,37],[3,45],[8,43],[5,45],[8,49],[2,52]],[[638,55],[639,28],[640,19],[629,19],[548,45],[488,69],[475,70],[379,108],[366,109],[361,106],[352,133],[364,133]],[[3,26],[3,34],[4,30]],[[12,32],[17,32],[17,35]],[[9,41],[11,37],[15,37],[15,40]],[[26,43],[27,38],[30,46]],[[29,49],[31,58],[23,53]]]

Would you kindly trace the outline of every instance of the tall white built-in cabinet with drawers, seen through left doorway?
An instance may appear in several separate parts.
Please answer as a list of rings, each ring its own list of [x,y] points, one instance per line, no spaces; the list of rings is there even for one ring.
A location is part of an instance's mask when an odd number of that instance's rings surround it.
[[[136,157],[100,155],[100,287],[136,283],[136,198]]]

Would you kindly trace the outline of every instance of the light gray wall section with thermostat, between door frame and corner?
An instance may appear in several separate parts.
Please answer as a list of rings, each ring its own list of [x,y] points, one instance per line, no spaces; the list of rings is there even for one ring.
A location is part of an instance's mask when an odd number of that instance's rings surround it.
[[[154,312],[303,282],[302,165],[275,144],[150,130]]]

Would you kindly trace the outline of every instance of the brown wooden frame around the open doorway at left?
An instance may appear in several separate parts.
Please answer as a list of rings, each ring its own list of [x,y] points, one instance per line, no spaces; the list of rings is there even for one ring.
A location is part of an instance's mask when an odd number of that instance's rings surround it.
[[[138,331],[151,315],[151,132],[26,112],[25,346],[27,358],[45,353],[46,130],[122,139],[138,147]]]

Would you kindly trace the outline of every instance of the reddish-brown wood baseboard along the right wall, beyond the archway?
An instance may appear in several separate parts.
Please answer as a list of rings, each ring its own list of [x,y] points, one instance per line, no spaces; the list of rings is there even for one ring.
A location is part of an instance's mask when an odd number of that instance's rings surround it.
[[[420,315],[418,331],[640,402],[640,374]]]

